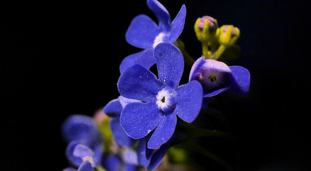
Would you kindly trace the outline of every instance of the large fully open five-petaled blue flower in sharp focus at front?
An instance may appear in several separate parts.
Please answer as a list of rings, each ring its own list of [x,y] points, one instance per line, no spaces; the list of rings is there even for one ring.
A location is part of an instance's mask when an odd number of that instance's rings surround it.
[[[120,94],[141,102],[129,103],[121,112],[120,123],[128,136],[139,139],[154,130],[148,148],[156,149],[173,134],[176,115],[192,122],[201,109],[202,86],[196,80],[179,85],[183,74],[183,55],[170,43],[154,49],[158,76],[141,65],[131,65],[118,80]]]

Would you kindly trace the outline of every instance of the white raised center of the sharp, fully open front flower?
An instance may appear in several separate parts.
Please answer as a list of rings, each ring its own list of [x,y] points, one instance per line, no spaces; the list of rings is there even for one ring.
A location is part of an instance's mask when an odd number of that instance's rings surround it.
[[[158,92],[156,95],[156,105],[159,110],[165,111],[167,113],[171,113],[175,110],[175,100],[172,94],[163,89]]]

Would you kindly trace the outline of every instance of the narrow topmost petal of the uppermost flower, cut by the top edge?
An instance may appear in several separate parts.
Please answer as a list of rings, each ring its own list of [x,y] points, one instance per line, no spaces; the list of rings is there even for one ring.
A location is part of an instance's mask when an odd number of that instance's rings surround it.
[[[159,21],[159,27],[163,31],[169,31],[171,25],[171,16],[166,8],[156,0],[147,0],[147,5],[156,15]]]

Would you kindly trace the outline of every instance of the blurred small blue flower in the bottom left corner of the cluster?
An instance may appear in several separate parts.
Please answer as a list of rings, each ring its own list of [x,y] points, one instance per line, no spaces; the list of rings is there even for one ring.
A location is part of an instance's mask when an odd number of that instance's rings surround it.
[[[66,156],[68,160],[76,167],[78,171],[94,171],[98,161],[95,158],[95,153],[87,146],[80,144],[77,141],[70,142],[66,148]],[[64,171],[75,170],[66,168]]]

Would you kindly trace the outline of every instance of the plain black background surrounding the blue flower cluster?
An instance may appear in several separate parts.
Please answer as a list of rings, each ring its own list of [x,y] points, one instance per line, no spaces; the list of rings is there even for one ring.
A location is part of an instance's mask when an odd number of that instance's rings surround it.
[[[225,98],[224,114],[239,137],[240,170],[309,170],[310,95],[307,2],[161,1],[173,19],[187,8],[180,38],[195,59],[198,17],[241,31],[241,56],[230,65],[251,74],[246,98]],[[118,66],[140,49],[125,32],[145,1],[19,3],[0,7],[1,170],[61,170],[68,166],[60,124],[93,115],[117,98]],[[188,77],[185,68],[184,77]],[[211,146],[211,148],[213,148]],[[218,170],[204,159],[205,169]]]

